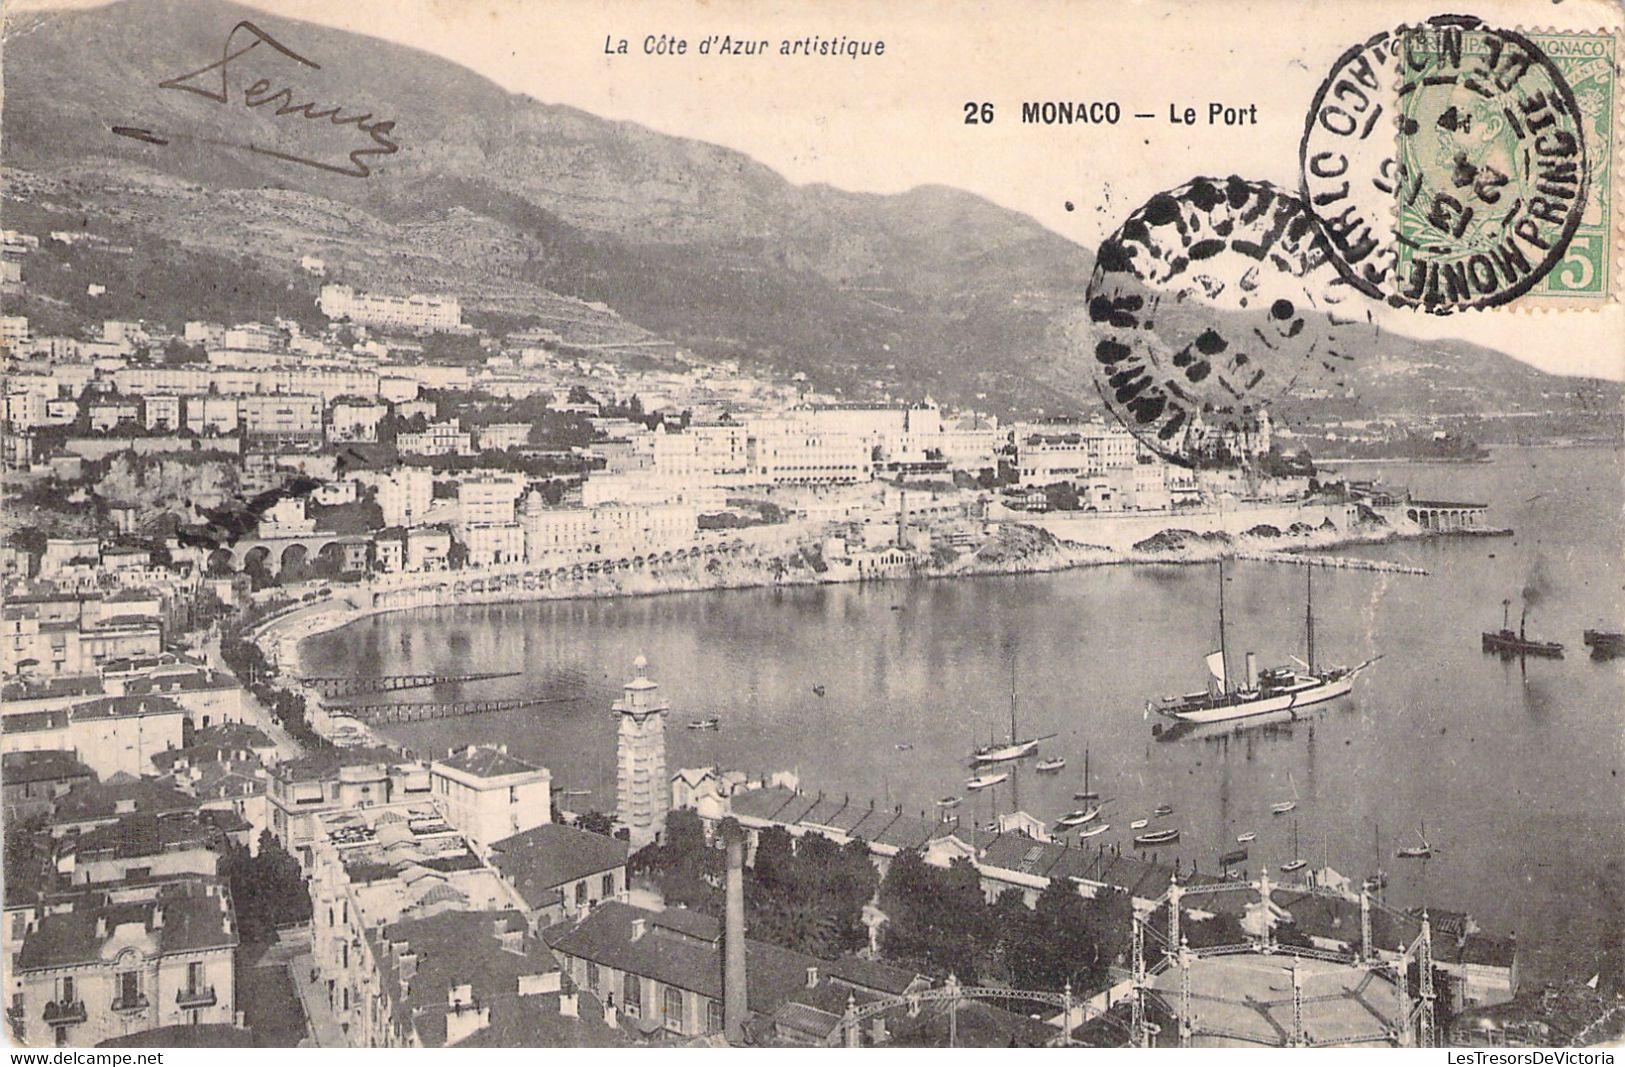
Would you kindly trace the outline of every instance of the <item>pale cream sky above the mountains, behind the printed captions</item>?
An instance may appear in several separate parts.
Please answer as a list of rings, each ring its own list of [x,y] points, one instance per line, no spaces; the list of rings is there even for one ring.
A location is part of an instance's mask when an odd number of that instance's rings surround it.
[[[923,184],[967,188],[1089,247],[1150,195],[1198,174],[1295,188],[1305,110],[1336,57],[1384,26],[1441,10],[1438,0],[249,2],[436,52],[540,101],[726,145],[791,182],[878,193]],[[1607,0],[1485,0],[1472,10],[1500,24],[1516,24],[1519,11],[1528,21],[1531,10],[1544,26],[1620,21]],[[645,55],[650,34],[687,39],[689,54]],[[699,55],[708,34],[769,39],[772,52]],[[858,60],[778,55],[782,39],[812,34],[882,39],[886,52]],[[604,55],[606,37],[626,37],[632,54]],[[1123,119],[1115,127],[1019,122],[1022,101],[1051,99],[1116,101]],[[965,123],[972,101],[994,104],[991,125]],[[1209,127],[1209,102],[1256,104],[1258,122]],[[1198,125],[1170,125],[1170,106],[1194,107]],[[1157,117],[1138,120],[1134,112]],[[410,138],[408,115],[398,135]],[[1448,318],[1386,312],[1383,322],[1412,336],[1490,344],[1547,370],[1625,378],[1625,312],[1617,305]]]

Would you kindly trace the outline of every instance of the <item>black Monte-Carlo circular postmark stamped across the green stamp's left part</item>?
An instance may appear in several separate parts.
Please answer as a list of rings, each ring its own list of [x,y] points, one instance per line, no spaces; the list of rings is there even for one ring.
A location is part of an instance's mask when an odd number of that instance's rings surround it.
[[[1337,58],[1298,164],[1342,278],[1446,315],[1514,300],[1562,261],[1586,148],[1575,94],[1536,44],[1441,15]]]

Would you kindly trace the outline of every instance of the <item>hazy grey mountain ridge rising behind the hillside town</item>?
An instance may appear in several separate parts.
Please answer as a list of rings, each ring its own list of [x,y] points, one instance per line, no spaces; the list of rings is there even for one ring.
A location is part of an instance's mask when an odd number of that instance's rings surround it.
[[[322,68],[247,54],[229,70],[234,96],[255,76],[297,84],[292,102],[393,117],[387,135],[400,151],[366,158],[374,174],[356,180],[210,145],[254,140],[325,162],[367,145],[353,128],[317,136],[299,115],[158,88],[218,57],[242,19]],[[120,179],[102,175],[83,193],[98,213],[140,216],[182,242],[231,247],[232,224],[258,226],[257,239],[276,248],[297,247],[301,234],[344,237],[344,224],[323,229],[301,210],[276,214],[240,195],[280,187],[377,219],[351,229],[393,247],[356,244],[346,255],[358,278],[422,278],[510,310],[552,296],[608,304],[686,348],[806,372],[845,395],[1097,406],[1087,348],[1069,339],[1094,255],[964,190],[795,185],[736,149],[548,104],[421,49],[228,0],[29,13],[8,18],[5,36],[6,166],[73,180],[101,164],[132,175],[132,188],[146,174],[176,179],[193,192],[140,205],[124,190],[120,201]],[[114,136],[112,125],[192,140],[154,146]],[[455,211],[468,218],[445,222]],[[470,231],[489,258],[471,258]],[[1542,375],[1477,346],[1391,344],[1401,356],[1462,352],[1472,374]]]

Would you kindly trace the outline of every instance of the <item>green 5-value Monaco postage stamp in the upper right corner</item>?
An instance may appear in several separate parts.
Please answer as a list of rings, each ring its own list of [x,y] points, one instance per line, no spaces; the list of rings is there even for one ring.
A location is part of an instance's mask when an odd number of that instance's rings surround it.
[[[1432,313],[1612,287],[1609,34],[1521,34],[1441,16],[1402,31],[1396,276]]]

